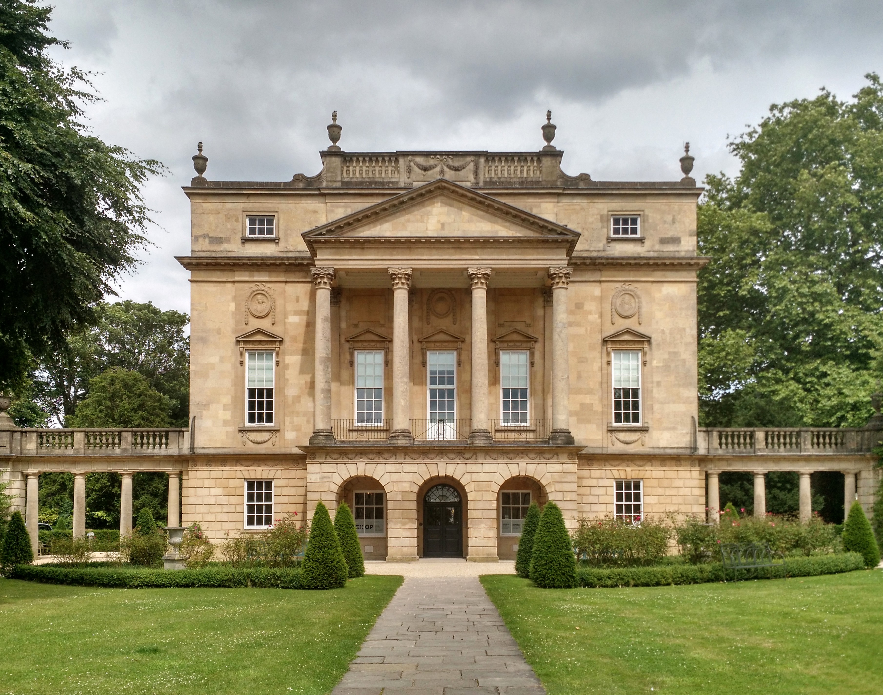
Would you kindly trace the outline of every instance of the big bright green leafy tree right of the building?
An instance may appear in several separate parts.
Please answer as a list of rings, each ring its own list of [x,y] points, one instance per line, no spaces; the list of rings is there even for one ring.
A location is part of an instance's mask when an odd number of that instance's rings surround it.
[[[863,426],[883,347],[883,85],[774,104],[698,210],[703,424]]]

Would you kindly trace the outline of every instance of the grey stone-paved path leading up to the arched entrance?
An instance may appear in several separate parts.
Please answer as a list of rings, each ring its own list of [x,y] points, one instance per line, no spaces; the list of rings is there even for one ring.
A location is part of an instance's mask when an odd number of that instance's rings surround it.
[[[332,695],[545,695],[474,577],[406,578]]]

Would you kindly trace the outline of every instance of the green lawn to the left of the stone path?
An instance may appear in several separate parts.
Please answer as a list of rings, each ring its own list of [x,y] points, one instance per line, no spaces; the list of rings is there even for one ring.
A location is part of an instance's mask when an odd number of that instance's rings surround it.
[[[309,592],[0,579],[0,692],[327,693],[401,583]]]

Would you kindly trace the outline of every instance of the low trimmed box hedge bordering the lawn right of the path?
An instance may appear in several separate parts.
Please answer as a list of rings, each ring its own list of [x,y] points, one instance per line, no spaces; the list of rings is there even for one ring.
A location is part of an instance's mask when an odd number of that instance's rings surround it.
[[[858,553],[786,557],[773,567],[739,570],[739,579],[774,579],[784,577],[814,577],[820,574],[838,574],[864,570],[864,558]],[[654,567],[622,567],[610,570],[581,568],[577,570],[579,585],[585,588],[615,588],[621,586],[670,586],[722,582],[721,563],[671,564]],[[728,571],[727,579],[733,576]]]

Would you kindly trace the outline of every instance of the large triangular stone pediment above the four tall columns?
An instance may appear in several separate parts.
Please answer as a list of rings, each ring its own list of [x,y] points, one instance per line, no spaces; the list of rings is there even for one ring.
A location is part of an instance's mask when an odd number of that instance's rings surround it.
[[[323,240],[347,238],[556,239],[572,246],[579,234],[484,193],[437,179],[303,233],[314,253]],[[569,252],[570,253],[570,252]]]

